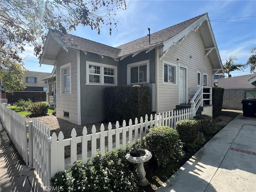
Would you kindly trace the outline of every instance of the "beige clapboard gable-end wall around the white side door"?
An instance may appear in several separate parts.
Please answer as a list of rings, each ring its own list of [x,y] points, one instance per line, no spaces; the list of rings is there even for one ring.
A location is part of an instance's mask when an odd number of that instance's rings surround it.
[[[160,49],[160,53],[162,50]],[[192,58],[190,58],[192,56]],[[179,63],[177,64],[177,58]],[[205,46],[200,30],[191,31],[181,44],[176,43],[167,54],[159,60],[159,78],[158,78],[158,112],[166,112],[176,108],[179,104],[179,70],[177,69],[177,84],[163,83],[163,60],[176,64],[179,67],[187,67],[187,98],[194,96],[197,87],[197,71],[200,71],[200,82],[203,84],[203,73],[207,74],[207,86],[213,87],[212,65],[208,56],[205,57]]]

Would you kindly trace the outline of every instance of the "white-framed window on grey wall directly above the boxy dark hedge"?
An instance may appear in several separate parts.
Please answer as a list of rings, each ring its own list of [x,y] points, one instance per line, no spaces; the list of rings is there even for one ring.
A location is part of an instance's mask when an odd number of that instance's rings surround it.
[[[127,65],[127,84],[149,83],[148,60]]]

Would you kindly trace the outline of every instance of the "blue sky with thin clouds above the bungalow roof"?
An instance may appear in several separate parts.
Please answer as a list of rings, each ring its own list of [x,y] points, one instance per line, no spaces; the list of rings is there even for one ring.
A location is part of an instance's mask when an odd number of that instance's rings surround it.
[[[96,30],[82,26],[76,31],[71,31],[70,34],[116,47],[146,36],[148,28],[154,33],[207,12],[223,64],[229,56],[236,56],[237,63],[246,63],[250,56],[250,48],[256,46],[256,1],[254,0],[129,0],[126,4],[126,10],[117,11],[118,31],[112,29],[111,36],[109,26],[102,26],[100,35]],[[39,66],[32,47],[26,46],[26,51],[21,56],[26,58],[24,63],[27,70],[52,72],[52,66]],[[250,69],[231,74],[232,76],[250,74]]]

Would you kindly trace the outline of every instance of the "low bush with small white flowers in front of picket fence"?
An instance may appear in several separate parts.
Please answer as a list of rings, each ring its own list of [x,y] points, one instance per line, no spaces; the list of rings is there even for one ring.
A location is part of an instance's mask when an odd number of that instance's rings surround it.
[[[64,192],[127,192],[138,191],[135,166],[125,159],[122,148],[112,153],[106,150],[104,158],[98,152],[94,160],[88,158],[75,162],[73,167],[58,172],[51,178],[51,185],[62,186]]]

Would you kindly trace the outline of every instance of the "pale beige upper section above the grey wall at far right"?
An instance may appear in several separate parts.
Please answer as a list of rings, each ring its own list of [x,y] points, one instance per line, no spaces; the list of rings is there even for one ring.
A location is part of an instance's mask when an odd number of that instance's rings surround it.
[[[256,87],[249,83],[248,79],[255,74],[228,77],[218,80],[218,87],[225,89],[255,89]]]

